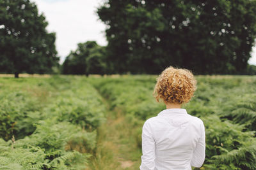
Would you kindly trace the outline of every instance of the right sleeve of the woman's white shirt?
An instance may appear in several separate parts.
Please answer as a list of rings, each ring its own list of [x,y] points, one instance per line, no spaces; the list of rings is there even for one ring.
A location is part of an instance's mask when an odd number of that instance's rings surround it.
[[[191,166],[201,167],[204,164],[204,159],[205,159],[205,129],[204,129],[204,123],[202,122],[201,134],[200,134],[198,143],[196,143],[196,148],[193,152]]]

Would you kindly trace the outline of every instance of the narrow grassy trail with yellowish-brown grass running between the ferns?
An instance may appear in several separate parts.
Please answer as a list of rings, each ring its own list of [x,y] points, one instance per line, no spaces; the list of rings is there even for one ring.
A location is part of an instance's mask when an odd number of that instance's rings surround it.
[[[131,124],[122,110],[111,110],[108,99],[102,98],[107,120],[97,129],[97,150],[87,170],[139,169],[141,150],[132,138]]]

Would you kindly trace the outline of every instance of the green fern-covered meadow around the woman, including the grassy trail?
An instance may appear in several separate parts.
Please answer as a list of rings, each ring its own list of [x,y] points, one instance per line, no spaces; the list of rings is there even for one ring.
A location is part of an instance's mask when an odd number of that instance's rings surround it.
[[[196,76],[200,169],[256,169],[256,76]],[[0,78],[0,169],[138,169],[156,76]]]

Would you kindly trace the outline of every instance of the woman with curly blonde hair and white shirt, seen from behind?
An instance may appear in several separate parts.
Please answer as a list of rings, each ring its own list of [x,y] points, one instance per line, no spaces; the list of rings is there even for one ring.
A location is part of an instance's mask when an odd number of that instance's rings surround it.
[[[205,159],[205,131],[200,118],[181,108],[196,90],[187,69],[166,68],[157,78],[154,94],[166,105],[143,125],[141,170],[187,170],[201,167]]]

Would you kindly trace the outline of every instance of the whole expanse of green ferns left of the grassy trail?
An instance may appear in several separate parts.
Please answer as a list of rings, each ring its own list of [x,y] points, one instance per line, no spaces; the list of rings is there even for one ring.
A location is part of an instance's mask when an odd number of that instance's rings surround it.
[[[86,168],[104,122],[101,97],[81,78],[28,79],[0,79],[1,136],[12,138],[0,139],[0,169]]]

